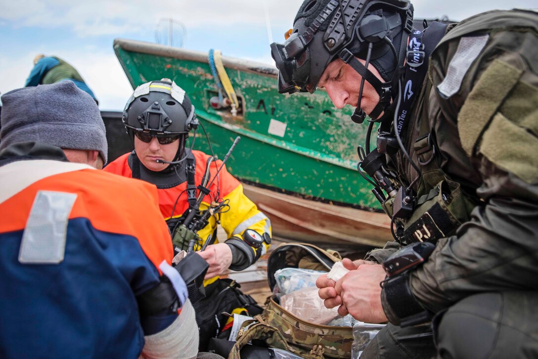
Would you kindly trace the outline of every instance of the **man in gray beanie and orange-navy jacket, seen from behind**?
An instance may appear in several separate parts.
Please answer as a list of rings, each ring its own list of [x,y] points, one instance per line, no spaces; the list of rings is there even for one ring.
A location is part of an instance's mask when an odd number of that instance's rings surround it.
[[[95,101],[65,81],[2,102],[0,357],[196,357],[157,189],[95,170]]]

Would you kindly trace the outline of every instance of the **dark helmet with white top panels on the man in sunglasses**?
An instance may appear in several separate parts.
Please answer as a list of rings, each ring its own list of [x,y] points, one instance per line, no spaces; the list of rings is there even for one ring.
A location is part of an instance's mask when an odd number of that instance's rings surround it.
[[[161,144],[179,139],[176,159],[184,153],[189,131],[198,127],[189,96],[169,79],[138,86],[125,105],[122,121],[131,140],[134,135],[144,142],[158,137]]]

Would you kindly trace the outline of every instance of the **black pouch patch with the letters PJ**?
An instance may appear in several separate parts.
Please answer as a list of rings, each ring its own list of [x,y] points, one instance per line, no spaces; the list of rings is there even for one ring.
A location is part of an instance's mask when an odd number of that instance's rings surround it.
[[[416,241],[435,243],[438,239],[447,237],[454,229],[454,222],[441,208],[441,205],[436,203],[412,225],[407,227],[404,234],[411,243]]]

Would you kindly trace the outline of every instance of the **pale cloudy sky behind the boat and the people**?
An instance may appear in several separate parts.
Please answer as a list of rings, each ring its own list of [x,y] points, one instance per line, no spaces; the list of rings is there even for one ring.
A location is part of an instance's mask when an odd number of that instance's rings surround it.
[[[0,93],[22,87],[38,53],[79,70],[101,109],[122,109],[132,88],[112,42],[155,42],[160,19],[185,25],[183,47],[274,65],[269,42],[284,40],[302,0],[0,0]],[[536,0],[415,0],[415,18],[462,20],[492,9],[536,8]],[[264,10],[266,5],[267,12]],[[271,31],[267,30],[267,17]]]

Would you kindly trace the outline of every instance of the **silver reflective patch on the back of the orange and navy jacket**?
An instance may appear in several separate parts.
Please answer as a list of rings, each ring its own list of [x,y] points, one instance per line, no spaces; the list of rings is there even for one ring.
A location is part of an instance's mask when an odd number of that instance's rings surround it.
[[[65,192],[37,192],[20,243],[20,263],[59,264],[63,260],[69,213],[76,197]]]

